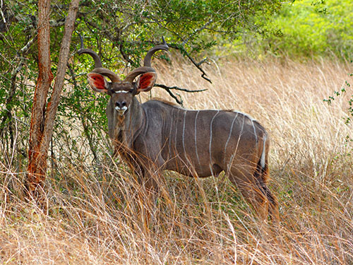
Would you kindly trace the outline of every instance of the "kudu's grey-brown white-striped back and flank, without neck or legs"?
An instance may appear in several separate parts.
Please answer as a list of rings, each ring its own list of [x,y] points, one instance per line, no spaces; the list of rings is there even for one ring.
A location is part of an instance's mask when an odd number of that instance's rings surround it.
[[[258,163],[265,129],[241,112],[185,110],[160,100],[143,104],[164,168],[199,177],[217,175],[230,163]]]

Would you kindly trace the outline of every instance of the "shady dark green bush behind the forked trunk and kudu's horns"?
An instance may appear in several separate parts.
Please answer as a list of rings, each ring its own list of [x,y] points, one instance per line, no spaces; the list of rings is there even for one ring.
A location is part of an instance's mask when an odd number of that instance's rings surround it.
[[[54,76],[68,3],[70,1],[51,2],[50,50]],[[121,75],[126,73],[124,70],[138,66],[146,50],[160,43],[162,36],[172,49],[199,66],[198,54],[213,47],[218,38],[234,40],[243,30],[256,33],[265,25],[265,20],[258,17],[269,17],[279,8],[279,0],[80,1],[72,56],[56,115],[52,153],[61,150],[63,142],[71,151],[80,150],[75,137],[81,135],[97,160],[102,156],[96,150],[97,141],[106,140],[102,131],[107,120],[102,110],[107,98],[86,88],[85,73],[92,69],[92,59],[75,56],[79,47],[77,33],[83,35],[85,47],[100,54],[104,67]],[[253,20],[258,23],[254,25]],[[9,0],[1,4],[0,159],[5,153],[9,158],[12,153],[21,154],[15,160],[23,160],[21,167],[27,162],[28,134],[23,131],[28,132],[30,128],[37,83],[37,24],[36,0]],[[77,127],[79,130],[73,134]],[[21,132],[20,139],[16,139],[18,132]],[[13,164],[13,160],[9,159],[8,164]]]

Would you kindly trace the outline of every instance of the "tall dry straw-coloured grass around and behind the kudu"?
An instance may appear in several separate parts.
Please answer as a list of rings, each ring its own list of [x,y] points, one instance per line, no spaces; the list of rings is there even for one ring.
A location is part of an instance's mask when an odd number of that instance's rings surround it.
[[[47,180],[47,213],[9,188],[20,187],[23,173],[1,163],[1,263],[353,264],[352,124],[342,119],[347,98],[323,102],[353,83],[352,65],[232,60],[206,71],[213,84],[174,61],[159,66],[158,82],[208,88],[181,93],[185,107],[240,110],[268,129],[282,218],[271,237],[225,177],[165,172],[165,192],[149,207],[119,160],[97,170],[66,152]],[[159,88],[152,96],[168,98]]]

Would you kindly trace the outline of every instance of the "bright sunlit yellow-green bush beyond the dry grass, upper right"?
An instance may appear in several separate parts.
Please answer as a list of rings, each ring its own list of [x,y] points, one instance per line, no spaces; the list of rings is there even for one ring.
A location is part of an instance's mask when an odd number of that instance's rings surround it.
[[[352,58],[353,2],[302,0],[283,4],[270,20],[275,33],[263,43],[275,54],[291,57]]]

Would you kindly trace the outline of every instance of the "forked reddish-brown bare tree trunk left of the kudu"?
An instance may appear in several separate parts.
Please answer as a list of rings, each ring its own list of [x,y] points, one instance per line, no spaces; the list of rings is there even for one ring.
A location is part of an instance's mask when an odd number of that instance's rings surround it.
[[[43,183],[47,172],[47,154],[52,139],[54,119],[59,105],[64,76],[70,51],[79,0],[71,1],[65,23],[64,37],[61,41],[59,64],[56,72],[52,99],[48,103],[47,95],[53,80],[49,50],[49,11],[50,0],[38,1],[38,68],[39,75],[33,98],[30,122],[30,145],[28,150],[28,192],[41,202],[44,195]]]

